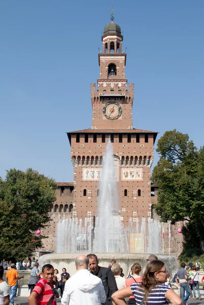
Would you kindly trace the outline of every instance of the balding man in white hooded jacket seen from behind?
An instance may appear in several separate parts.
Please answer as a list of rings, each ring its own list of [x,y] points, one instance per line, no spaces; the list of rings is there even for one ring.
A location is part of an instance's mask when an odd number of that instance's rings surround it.
[[[101,305],[106,300],[101,279],[88,270],[89,258],[79,255],[75,259],[77,272],[65,283],[62,305]]]

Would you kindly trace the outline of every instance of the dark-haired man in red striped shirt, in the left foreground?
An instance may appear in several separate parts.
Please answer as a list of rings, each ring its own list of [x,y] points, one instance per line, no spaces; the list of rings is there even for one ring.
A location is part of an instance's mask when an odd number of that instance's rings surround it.
[[[28,297],[30,305],[56,305],[56,298],[52,291],[54,268],[50,264],[42,267],[41,279],[36,284],[32,293]]]

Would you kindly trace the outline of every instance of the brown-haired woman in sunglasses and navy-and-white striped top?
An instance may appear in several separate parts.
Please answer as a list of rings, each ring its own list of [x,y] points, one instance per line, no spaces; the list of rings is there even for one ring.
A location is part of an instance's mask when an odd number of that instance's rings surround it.
[[[125,305],[124,298],[134,296],[136,305],[168,304],[182,305],[182,300],[166,282],[167,270],[162,261],[150,262],[142,276],[141,283],[132,284],[112,294],[112,299],[116,305]]]

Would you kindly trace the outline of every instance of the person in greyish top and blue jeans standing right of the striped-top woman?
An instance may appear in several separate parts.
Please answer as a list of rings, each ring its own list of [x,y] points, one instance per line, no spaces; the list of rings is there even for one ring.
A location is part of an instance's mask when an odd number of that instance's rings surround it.
[[[191,295],[190,287],[188,285],[187,279],[187,272],[185,270],[185,263],[181,263],[181,268],[177,271],[177,279],[179,280],[179,284],[181,287],[181,298],[182,301],[186,304],[189,296]],[[186,291],[186,295],[185,295]]]

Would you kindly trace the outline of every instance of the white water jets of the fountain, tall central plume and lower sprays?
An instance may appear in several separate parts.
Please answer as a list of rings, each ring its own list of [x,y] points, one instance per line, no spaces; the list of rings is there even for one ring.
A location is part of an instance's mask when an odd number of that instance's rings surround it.
[[[119,212],[119,191],[116,182],[113,149],[110,140],[106,146],[103,173],[100,181],[98,217],[93,224],[91,218],[65,219],[57,224],[57,253],[159,253],[159,222],[141,219],[129,220],[124,228]],[[136,221],[135,221],[136,220]],[[135,224],[135,225],[133,225]]]

